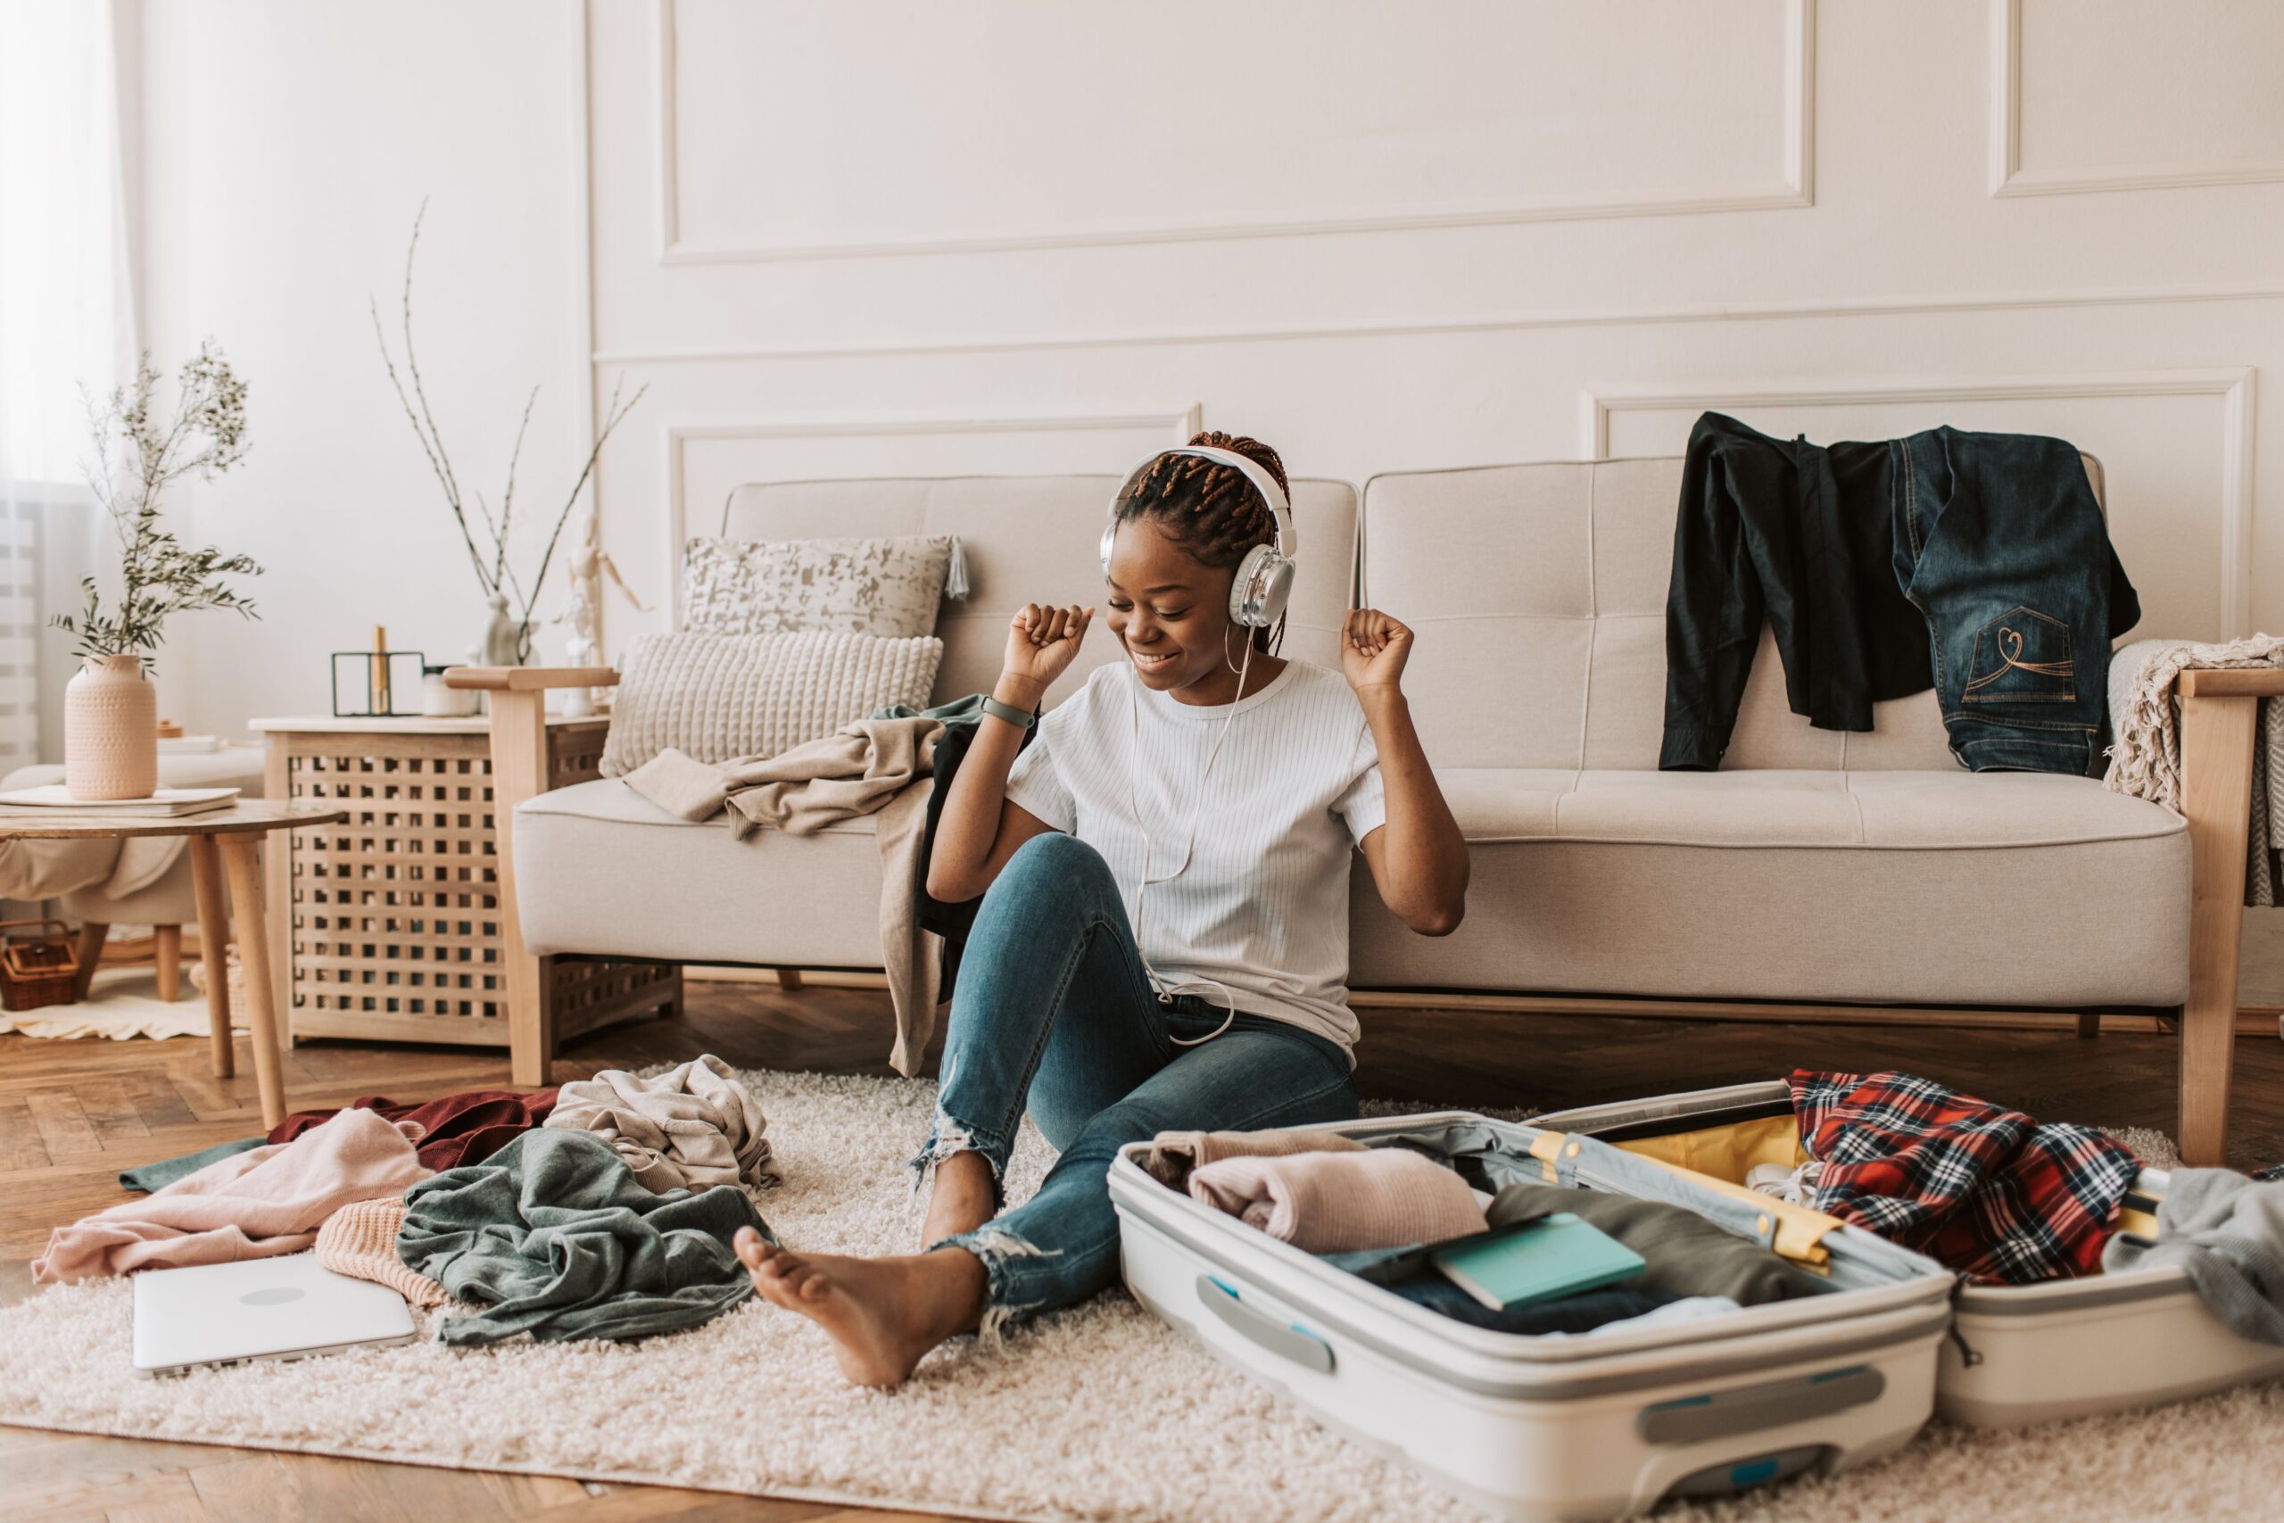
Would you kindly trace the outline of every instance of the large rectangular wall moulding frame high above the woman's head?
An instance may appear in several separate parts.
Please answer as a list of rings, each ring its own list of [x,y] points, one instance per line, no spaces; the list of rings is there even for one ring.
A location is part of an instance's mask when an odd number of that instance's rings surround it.
[[[1498,206],[1325,212],[1274,219],[1165,221],[1121,226],[1010,228],[982,235],[914,235],[877,242],[701,242],[685,237],[681,201],[681,103],[676,84],[676,0],[653,0],[653,148],[658,192],[658,263],[724,265],[772,260],[850,260],[879,256],[1000,253],[1014,249],[1101,249],[1233,237],[1311,237],[1471,228],[1523,221],[1606,217],[1679,217],[1697,212],[1784,210],[1816,201],[1816,0],[1784,5],[1784,142],[1777,174],[1729,185],[1507,199]]]

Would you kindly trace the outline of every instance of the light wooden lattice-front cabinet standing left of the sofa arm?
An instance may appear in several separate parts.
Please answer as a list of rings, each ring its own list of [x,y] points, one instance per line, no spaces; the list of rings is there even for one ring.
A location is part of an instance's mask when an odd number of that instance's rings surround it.
[[[292,1037],[500,1046],[514,1082],[544,1085],[555,1041],[681,1002],[674,966],[528,954],[507,895],[498,817],[601,776],[608,719],[544,719],[512,751],[486,719],[254,728],[270,738],[270,797],[347,813],[270,861]]]

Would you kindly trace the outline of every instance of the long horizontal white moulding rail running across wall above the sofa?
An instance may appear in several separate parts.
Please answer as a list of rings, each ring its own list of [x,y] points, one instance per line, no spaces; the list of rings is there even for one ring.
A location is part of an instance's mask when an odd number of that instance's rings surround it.
[[[2202,301],[2284,301],[2284,283],[2152,285],[2122,290],[2017,290],[1935,297],[1832,297],[1800,301],[1722,301],[1695,306],[1615,306],[1597,311],[1491,313],[1485,317],[1407,317],[1265,329],[1176,329],[1160,333],[1037,333],[941,338],[914,343],[726,345],[708,349],[598,349],[596,365],[713,365],[806,358],[918,358],[930,354],[1032,354],[1053,349],[1142,349],[1176,345],[1311,343],[1343,338],[1416,338],[1437,333],[1521,333],[1535,329],[1617,329],[1702,322],[1782,322],[1793,317],[1930,317],[1944,313],[2035,313],[2053,308],[2170,306]]]

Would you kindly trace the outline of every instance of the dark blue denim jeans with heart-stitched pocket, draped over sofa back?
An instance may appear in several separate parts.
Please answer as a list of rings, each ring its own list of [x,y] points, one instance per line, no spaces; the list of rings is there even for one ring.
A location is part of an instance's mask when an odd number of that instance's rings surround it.
[[[2140,598],[2076,445],[1928,429],[1889,450],[1896,580],[1928,617],[1953,756],[1973,772],[2099,772],[2110,639]]]

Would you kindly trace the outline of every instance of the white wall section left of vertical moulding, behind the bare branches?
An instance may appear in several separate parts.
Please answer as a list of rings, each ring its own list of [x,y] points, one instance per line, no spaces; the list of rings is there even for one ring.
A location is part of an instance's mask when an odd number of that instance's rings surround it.
[[[174,626],[160,708],[242,733],[254,715],[327,712],[327,655],[365,648],[375,623],[432,660],[482,632],[365,308],[379,295],[393,324],[423,196],[416,336],[461,484],[498,502],[541,384],[518,518],[571,491],[587,427],[576,14],[201,0],[142,21],[146,343],[169,370],[212,333],[251,384],[251,454],[185,493],[185,539],[267,566],[260,623]]]

